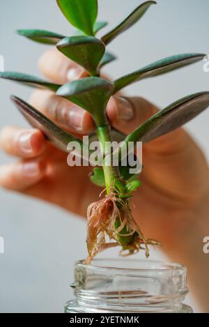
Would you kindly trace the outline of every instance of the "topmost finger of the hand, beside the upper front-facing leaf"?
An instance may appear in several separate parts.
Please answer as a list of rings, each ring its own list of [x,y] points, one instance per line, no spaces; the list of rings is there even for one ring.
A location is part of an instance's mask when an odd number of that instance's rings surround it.
[[[38,61],[38,66],[45,77],[58,84],[88,76],[84,68],[56,49],[44,52]]]

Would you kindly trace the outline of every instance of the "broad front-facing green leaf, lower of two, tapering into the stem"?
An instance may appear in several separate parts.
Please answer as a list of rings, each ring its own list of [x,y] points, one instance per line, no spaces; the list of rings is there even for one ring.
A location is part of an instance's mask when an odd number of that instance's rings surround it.
[[[86,109],[99,127],[107,123],[105,110],[113,90],[113,84],[107,79],[86,77],[61,86],[56,94]]]

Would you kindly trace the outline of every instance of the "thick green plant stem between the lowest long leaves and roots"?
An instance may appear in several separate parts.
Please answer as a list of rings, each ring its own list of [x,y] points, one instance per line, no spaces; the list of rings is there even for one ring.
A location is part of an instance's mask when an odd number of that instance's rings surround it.
[[[109,146],[107,142],[111,142],[111,135],[109,133],[109,126],[101,126],[97,128],[98,139],[100,142],[100,148],[102,154],[104,155],[104,160],[102,163],[104,170],[104,179],[107,190],[107,195],[109,195],[111,191],[111,185],[114,181],[114,178],[117,177],[117,169],[111,165],[112,158],[111,153],[109,153]],[[110,145],[110,143],[109,143]]]

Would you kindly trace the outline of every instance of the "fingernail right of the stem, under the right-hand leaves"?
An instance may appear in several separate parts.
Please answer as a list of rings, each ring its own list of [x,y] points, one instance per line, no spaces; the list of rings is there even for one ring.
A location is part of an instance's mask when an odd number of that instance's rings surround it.
[[[118,97],[116,101],[116,118],[121,121],[130,121],[134,117],[132,104],[126,98]]]

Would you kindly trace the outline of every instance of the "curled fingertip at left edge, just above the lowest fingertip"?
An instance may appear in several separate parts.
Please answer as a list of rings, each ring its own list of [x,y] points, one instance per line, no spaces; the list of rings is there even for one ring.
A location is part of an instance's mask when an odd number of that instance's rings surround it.
[[[0,148],[9,155],[34,158],[40,155],[45,147],[46,140],[40,130],[6,126],[0,132]]]

